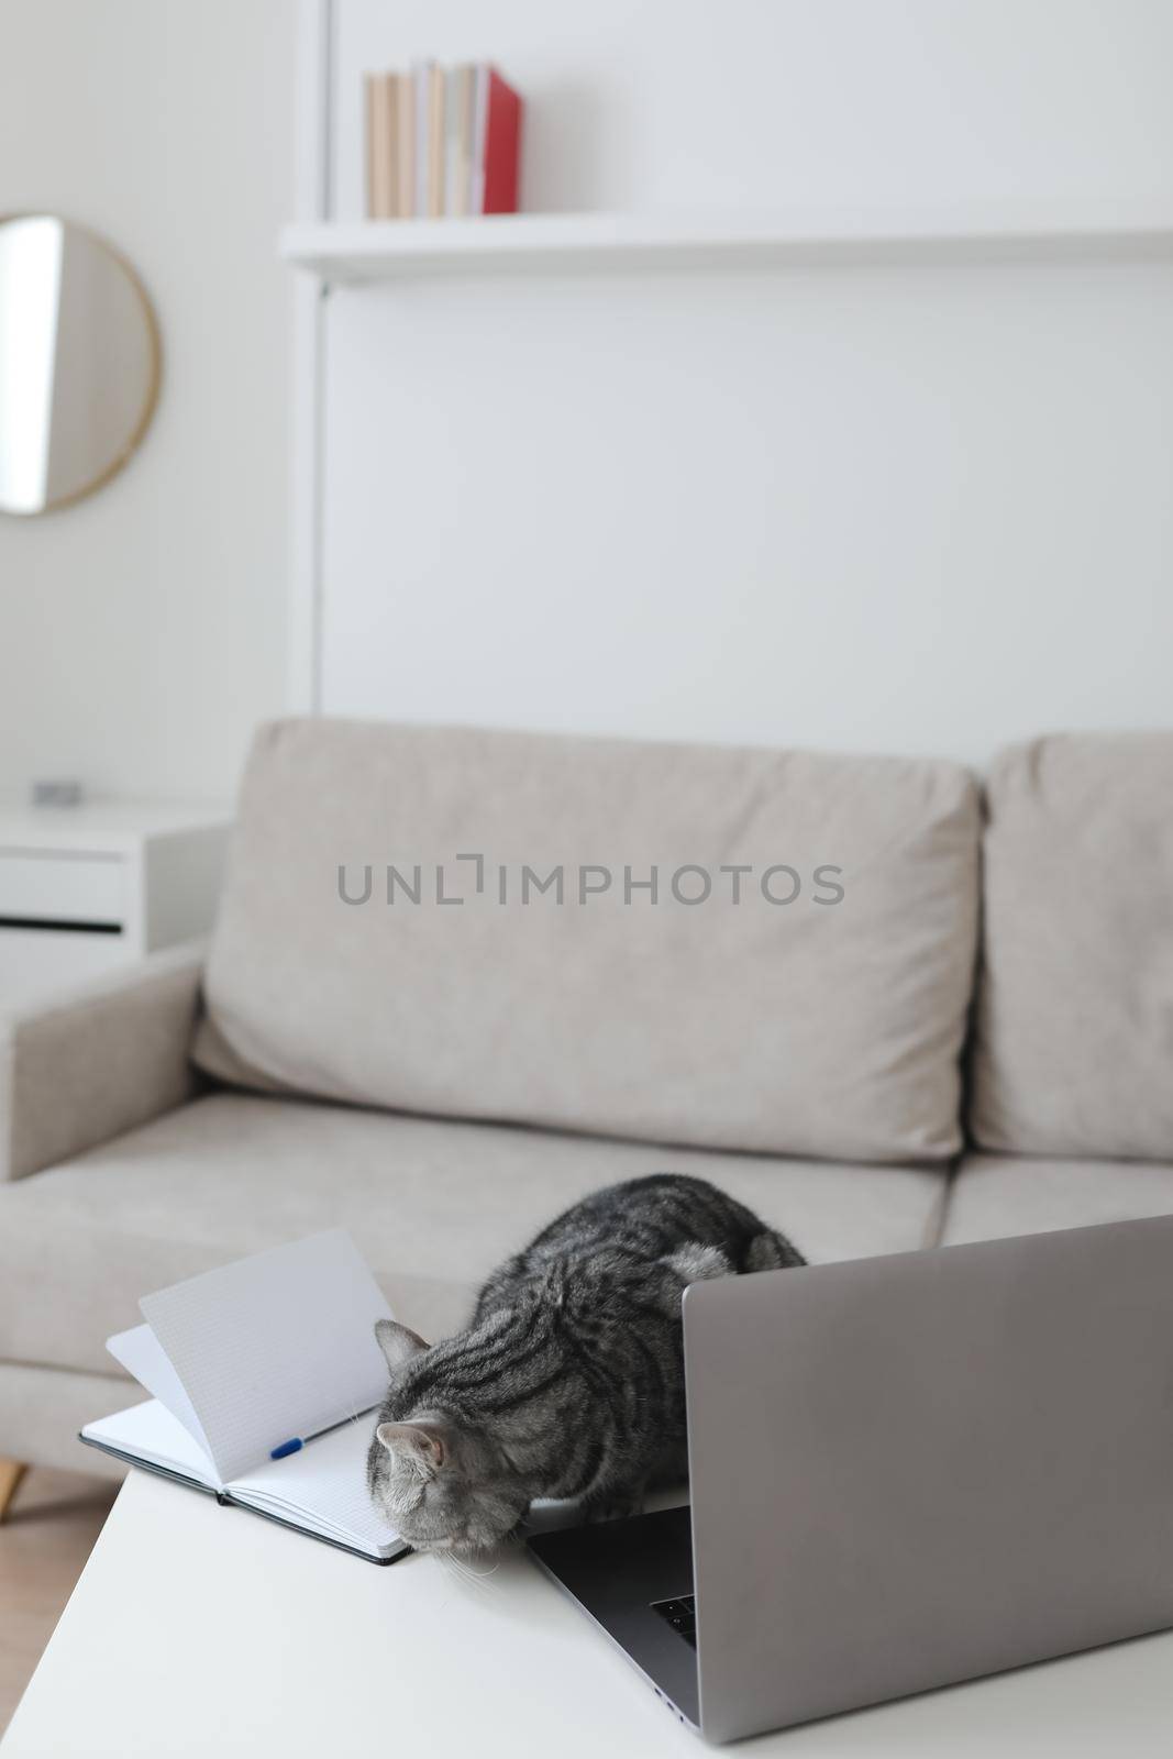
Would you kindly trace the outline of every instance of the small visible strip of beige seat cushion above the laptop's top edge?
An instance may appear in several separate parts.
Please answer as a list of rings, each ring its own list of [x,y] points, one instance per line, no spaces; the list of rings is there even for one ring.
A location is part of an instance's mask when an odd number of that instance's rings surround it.
[[[967,1154],[950,1187],[941,1245],[1141,1215],[1173,1215],[1173,1163]]]

